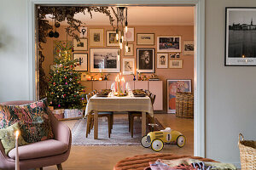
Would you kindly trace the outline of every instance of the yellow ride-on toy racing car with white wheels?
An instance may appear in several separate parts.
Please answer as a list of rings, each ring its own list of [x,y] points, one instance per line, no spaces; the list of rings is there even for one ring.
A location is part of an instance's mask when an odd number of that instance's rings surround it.
[[[186,138],[182,133],[172,130],[170,127],[166,127],[165,130],[150,132],[143,136],[141,144],[145,148],[149,148],[154,151],[160,151],[164,148],[164,143],[176,142],[177,146],[182,148],[186,143]]]

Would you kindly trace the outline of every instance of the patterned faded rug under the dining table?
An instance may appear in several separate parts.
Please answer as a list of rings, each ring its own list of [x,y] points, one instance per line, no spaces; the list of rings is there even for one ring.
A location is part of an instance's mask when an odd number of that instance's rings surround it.
[[[163,129],[164,127],[155,118],[155,123],[158,127],[155,130]],[[73,145],[133,145],[140,144],[141,141],[141,120],[134,119],[134,130],[133,138],[131,138],[131,133],[129,132],[128,119],[114,119],[113,120],[113,130],[110,139],[108,138],[108,121],[99,118],[98,127],[98,138],[93,139],[94,129],[90,131],[88,138],[85,137],[86,134],[86,119],[80,119],[75,123],[72,129],[72,144]],[[147,129],[147,132],[148,129]]]

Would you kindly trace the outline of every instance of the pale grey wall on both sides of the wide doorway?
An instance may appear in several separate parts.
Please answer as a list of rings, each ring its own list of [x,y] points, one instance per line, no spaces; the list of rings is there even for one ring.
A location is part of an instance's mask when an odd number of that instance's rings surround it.
[[[226,6],[256,1],[206,1],[206,156],[238,163],[238,133],[256,140],[256,67],[224,66]],[[0,102],[29,99],[26,11],[24,0],[1,0]]]

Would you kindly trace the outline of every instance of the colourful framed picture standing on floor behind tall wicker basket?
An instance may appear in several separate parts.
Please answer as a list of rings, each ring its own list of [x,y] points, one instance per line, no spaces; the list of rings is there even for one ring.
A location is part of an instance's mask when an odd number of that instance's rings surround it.
[[[167,113],[176,113],[177,92],[191,92],[191,80],[167,80]]]

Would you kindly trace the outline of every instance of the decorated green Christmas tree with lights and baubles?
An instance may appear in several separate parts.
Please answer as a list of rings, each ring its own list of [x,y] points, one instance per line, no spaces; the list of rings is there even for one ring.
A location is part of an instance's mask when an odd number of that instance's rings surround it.
[[[58,56],[55,56],[55,69],[49,71],[49,105],[55,108],[79,109],[83,106],[84,87],[81,74],[75,71],[78,59],[72,59],[72,48],[66,42],[57,44]]]

